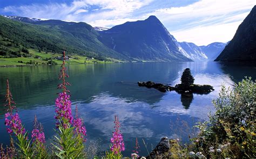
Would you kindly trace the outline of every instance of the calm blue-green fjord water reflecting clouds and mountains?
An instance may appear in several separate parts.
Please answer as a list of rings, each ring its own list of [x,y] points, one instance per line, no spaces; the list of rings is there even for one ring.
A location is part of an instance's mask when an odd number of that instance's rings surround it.
[[[60,66],[35,66],[0,68],[0,100],[3,100],[6,78],[17,103],[19,115],[25,128],[31,131],[33,118],[44,126],[45,137],[52,140],[55,132],[55,99]],[[190,68],[197,84],[210,84],[215,91],[208,95],[193,95],[184,98],[172,92],[139,87],[138,81],[153,81],[175,85],[185,68]],[[79,115],[87,129],[87,147],[100,142],[100,150],[109,148],[113,132],[114,115],[118,115],[125,140],[125,156],[130,156],[136,138],[140,155],[147,148],[156,146],[163,136],[188,140],[188,134],[197,121],[208,120],[214,112],[212,99],[218,97],[221,84],[233,86],[244,76],[256,79],[255,67],[226,65],[217,62],[164,62],[123,64],[77,64],[67,65],[67,79],[73,111],[78,106]],[[0,143],[9,143],[5,131],[4,111],[0,111]]]

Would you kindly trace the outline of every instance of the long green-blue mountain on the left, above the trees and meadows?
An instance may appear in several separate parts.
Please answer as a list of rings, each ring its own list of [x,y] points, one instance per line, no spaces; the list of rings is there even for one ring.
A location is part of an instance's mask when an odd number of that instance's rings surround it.
[[[0,16],[0,35],[24,47],[48,50],[48,52],[61,53],[62,50],[67,50],[71,54],[130,59],[102,44],[98,40],[99,33],[89,24],[82,22],[17,16],[12,16],[10,19]]]

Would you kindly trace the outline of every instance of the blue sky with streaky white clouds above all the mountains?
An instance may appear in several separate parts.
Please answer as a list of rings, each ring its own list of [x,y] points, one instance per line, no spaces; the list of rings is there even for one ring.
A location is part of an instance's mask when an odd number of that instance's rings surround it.
[[[112,27],[150,15],[178,41],[230,41],[256,0],[0,0],[0,15],[83,21]]]

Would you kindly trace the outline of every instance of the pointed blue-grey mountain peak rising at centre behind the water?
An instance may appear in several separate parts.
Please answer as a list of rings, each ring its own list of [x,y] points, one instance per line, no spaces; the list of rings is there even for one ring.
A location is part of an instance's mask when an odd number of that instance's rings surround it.
[[[99,32],[99,40],[125,56],[145,61],[192,61],[156,16]]]

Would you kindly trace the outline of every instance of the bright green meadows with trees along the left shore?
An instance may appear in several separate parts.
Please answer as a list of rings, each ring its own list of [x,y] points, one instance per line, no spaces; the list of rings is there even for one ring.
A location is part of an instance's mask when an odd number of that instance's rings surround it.
[[[61,64],[62,54],[52,53],[49,50],[28,49],[24,45],[14,42],[0,35],[0,66],[24,66],[26,64]],[[96,59],[98,58],[98,59]],[[72,54],[69,56],[67,63],[83,64],[83,63],[113,63],[122,62],[109,57],[97,55],[82,56]]]

